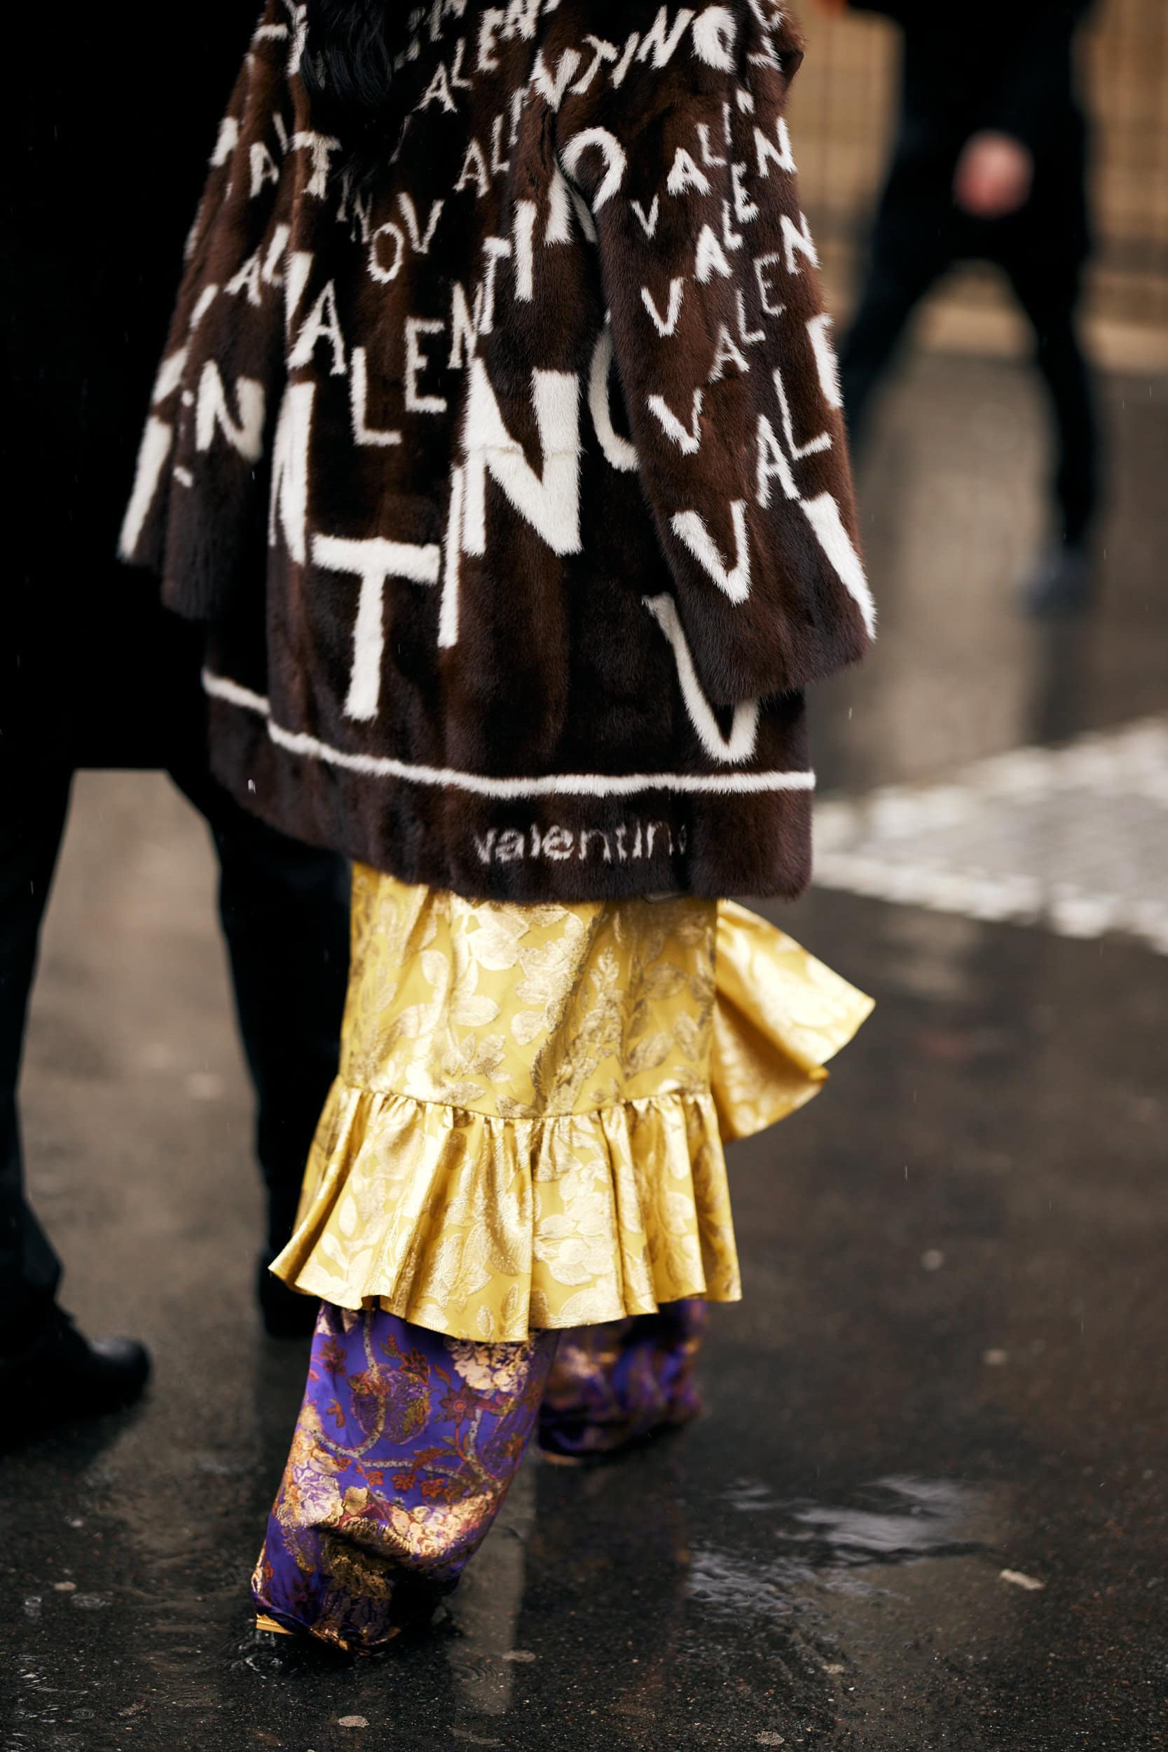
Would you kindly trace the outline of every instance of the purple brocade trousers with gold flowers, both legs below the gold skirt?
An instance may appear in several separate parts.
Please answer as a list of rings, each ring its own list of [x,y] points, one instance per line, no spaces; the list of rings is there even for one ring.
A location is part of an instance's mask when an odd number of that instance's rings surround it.
[[[252,1594],[285,1629],[371,1650],[457,1587],[527,1445],[597,1458],[697,1416],[702,1302],[473,1344],[322,1303]],[[559,1353],[559,1354],[557,1354]]]

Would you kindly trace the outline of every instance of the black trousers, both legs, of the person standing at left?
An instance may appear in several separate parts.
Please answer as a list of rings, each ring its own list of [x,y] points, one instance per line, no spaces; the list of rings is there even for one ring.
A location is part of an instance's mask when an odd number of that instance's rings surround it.
[[[257,1099],[268,1247],[287,1240],[324,1097],[336,1076],[348,976],[348,881],[338,857],[242,809],[193,764],[170,773],[219,853],[219,911]],[[18,1081],[40,922],[72,771],[0,771],[0,1361],[37,1344],[61,1265],[26,1197]]]

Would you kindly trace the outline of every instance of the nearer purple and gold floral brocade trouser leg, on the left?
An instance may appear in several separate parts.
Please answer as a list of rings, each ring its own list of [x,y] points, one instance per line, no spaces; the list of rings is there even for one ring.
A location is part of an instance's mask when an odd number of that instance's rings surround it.
[[[503,1505],[555,1344],[459,1344],[324,1307],[252,1577],[259,1610],[354,1650],[429,1617]]]

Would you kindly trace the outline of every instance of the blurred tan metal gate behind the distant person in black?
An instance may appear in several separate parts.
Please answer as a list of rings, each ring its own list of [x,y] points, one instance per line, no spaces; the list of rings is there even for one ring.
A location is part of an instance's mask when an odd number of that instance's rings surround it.
[[[954,5],[958,0],[935,0]],[[802,0],[807,61],[792,95],[792,131],[811,217],[837,294],[879,193],[895,102],[897,32],[879,18],[828,19]],[[1101,0],[1082,33],[1094,119],[1098,256],[1093,314],[1108,328],[1168,335],[1168,0]],[[988,275],[954,293],[998,298]]]

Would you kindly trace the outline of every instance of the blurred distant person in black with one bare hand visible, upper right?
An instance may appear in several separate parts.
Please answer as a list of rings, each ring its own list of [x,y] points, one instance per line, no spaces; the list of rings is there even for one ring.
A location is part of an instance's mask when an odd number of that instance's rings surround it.
[[[820,0],[828,12],[849,0]],[[921,298],[958,261],[996,263],[1037,340],[1054,415],[1054,526],[1024,585],[1035,613],[1091,597],[1100,501],[1091,373],[1079,340],[1091,249],[1087,124],[1073,39],[1091,0],[970,9],[940,0],[855,0],[902,30],[900,119],[842,384],[862,445],[874,389]]]

